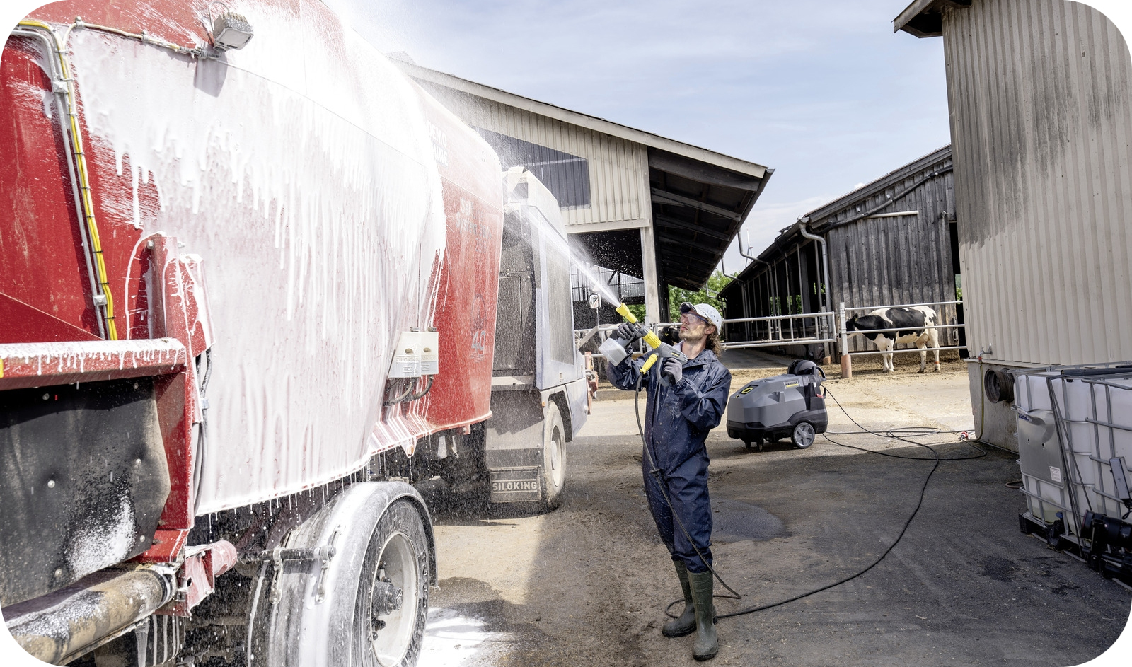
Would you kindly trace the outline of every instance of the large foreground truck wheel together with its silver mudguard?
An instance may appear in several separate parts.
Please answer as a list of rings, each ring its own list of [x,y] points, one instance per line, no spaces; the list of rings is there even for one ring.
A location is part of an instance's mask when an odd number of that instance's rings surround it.
[[[278,597],[265,563],[252,609],[249,667],[411,667],[435,581],[431,523],[402,482],[355,482],[294,529],[289,549],[333,546],[319,561],[285,562]],[[258,623],[265,645],[256,645]]]

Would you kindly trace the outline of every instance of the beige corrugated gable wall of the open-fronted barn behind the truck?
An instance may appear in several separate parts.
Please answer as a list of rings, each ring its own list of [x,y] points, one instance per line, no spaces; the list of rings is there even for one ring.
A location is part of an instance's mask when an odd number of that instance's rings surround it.
[[[441,86],[423,85],[471,126],[585,157],[590,206],[564,208],[564,224],[651,220],[645,146]]]

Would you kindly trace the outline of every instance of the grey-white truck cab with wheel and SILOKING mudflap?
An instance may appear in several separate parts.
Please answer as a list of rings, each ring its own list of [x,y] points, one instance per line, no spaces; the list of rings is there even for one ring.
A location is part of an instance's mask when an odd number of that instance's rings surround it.
[[[574,345],[571,250],[558,202],[521,166],[505,174],[491,419],[491,503],[558,506],[565,444],[585,424],[585,367]]]

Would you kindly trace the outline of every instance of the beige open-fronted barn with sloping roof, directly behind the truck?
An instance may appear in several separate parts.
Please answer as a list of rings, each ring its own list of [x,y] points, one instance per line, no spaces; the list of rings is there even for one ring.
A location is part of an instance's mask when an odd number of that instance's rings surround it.
[[[397,54],[393,54],[394,58]],[[706,148],[420,67],[397,65],[472,126],[505,168],[530,169],[558,198],[571,241],[644,303],[668,316],[668,289],[698,290],[773,170]],[[585,300],[585,284],[575,299]],[[615,290],[616,291],[616,290]],[[604,322],[616,317],[611,307]],[[577,311],[577,303],[575,311]]]

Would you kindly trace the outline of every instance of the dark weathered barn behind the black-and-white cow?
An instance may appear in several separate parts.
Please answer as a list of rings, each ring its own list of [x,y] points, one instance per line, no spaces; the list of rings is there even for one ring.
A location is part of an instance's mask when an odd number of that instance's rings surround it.
[[[739,273],[720,297],[727,319],[837,313],[846,308],[933,305],[942,324],[961,324],[951,146],[895,169],[804,215]],[[827,277],[826,277],[827,272]],[[850,313],[849,315],[860,315]],[[815,331],[816,330],[816,331]],[[769,347],[814,359],[832,356],[831,318],[731,323],[729,345]],[[940,332],[944,347],[961,330]],[[799,343],[798,340],[806,342]],[[866,351],[855,336],[850,352]]]

